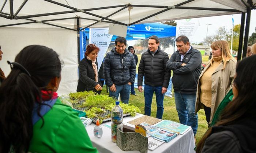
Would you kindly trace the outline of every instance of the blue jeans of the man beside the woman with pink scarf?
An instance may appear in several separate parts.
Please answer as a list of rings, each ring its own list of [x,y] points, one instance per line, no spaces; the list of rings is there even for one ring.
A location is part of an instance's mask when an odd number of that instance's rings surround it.
[[[118,99],[119,93],[123,103],[129,103],[131,85],[116,85],[116,92],[109,90],[109,97]]]

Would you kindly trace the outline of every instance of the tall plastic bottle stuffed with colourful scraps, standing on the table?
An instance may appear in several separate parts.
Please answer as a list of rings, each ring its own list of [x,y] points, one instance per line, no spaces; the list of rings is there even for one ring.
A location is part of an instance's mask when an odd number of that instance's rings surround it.
[[[119,106],[118,101],[111,111],[111,121],[111,140],[116,143],[117,129],[123,131],[123,109]]]

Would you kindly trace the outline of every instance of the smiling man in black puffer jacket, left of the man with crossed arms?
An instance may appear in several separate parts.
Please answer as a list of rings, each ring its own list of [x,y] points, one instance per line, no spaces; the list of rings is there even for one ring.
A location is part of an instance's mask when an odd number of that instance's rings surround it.
[[[167,91],[170,80],[170,70],[166,68],[169,56],[159,46],[157,36],[148,39],[148,50],[140,59],[138,70],[138,90],[142,93],[142,81],[144,81],[145,115],[151,115],[151,103],[155,92],[157,100],[157,118],[163,116],[163,98]]]

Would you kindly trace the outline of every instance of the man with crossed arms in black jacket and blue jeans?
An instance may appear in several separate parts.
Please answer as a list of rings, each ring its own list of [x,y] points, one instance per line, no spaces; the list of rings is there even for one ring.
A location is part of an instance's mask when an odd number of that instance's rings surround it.
[[[198,126],[195,114],[196,88],[202,55],[189,44],[186,36],[178,36],[176,46],[178,50],[167,62],[167,68],[173,70],[174,99],[180,123],[191,126],[195,135]]]

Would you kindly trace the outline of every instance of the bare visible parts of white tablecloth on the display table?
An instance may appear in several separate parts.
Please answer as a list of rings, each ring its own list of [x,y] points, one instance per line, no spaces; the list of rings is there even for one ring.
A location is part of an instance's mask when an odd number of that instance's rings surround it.
[[[136,114],[135,117],[125,117],[123,123],[125,125],[129,125],[129,121],[133,119],[142,117],[143,114]],[[101,127],[103,130],[103,135],[101,138],[95,138],[93,135],[93,129],[95,124],[91,123],[86,127],[87,133],[93,143],[93,146],[98,149],[100,153],[139,153],[139,151],[123,151],[121,150],[116,143],[111,141],[111,129],[104,125],[111,126],[111,122],[102,123]],[[148,150],[148,153],[194,153],[193,150],[195,148],[195,139],[193,130],[189,129],[182,135],[178,135],[170,142],[165,142],[161,146],[159,146],[154,151]]]

